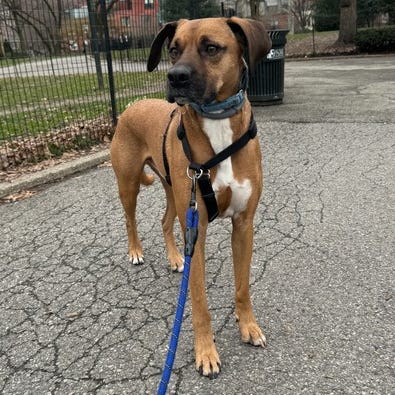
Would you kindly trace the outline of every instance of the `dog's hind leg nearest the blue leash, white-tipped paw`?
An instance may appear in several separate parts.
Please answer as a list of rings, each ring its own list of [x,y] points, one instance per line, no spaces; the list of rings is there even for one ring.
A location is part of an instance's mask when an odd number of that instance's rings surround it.
[[[166,242],[167,257],[170,263],[170,269],[174,272],[182,272],[184,270],[184,258],[180,254],[174,238],[174,220],[177,216],[174,196],[172,189],[163,181],[166,192],[166,211],[162,218],[163,236]]]

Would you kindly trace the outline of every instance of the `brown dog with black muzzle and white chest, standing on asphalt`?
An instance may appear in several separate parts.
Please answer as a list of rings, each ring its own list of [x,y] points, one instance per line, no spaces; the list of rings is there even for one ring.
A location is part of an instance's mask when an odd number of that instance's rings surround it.
[[[158,65],[166,39],[173,64],[168,72],[167,99],[176,104],[149,99],[129,107],[119,119],[111,144],[111,159],[126,215],[130,261],[143,263],[135,210],[140,184],[153,182],[153,176],[145,174],[143,169],[148,164],[159,175],[166,191],[167,208],[162,225],[170,267],[182,271],[184,261],[176,247],[173,223],[178,216],[185,230],[191,180],[187,176],[190,161],[177,137],[177,128],[182,122],[195,163],[205,163],[242,136],[249,129],[252,117],[250,103],[243,96],[244,87],[240,88],[246,74],[243,54],[248,54],[247,61],[252,66],[268,52],[271,43],[263,24],[253,20],[232,17],[171,22],[152,44],[149,71]],[[229,103],[227,99],[236,96],[237,105],[232,100]],[[216,103],[225,103],[225,110],[215,107]],[[202,105],[208,106],[207,116],[196,109]],[[228,111],[228,107],[232,108]],[[166,175],[170,176],[171,186]],[[266,340],[256,323],[249,294],[253,218],[262,190],[258,139],[249,140],[207,175],[219,215],[232,219],[235,314],[241,339],[263,347]],[[200,223],[190,279],[196,368],[205,376],[216,377],[221,365],[205,293],[208,215],[199,191],[197,201]]]

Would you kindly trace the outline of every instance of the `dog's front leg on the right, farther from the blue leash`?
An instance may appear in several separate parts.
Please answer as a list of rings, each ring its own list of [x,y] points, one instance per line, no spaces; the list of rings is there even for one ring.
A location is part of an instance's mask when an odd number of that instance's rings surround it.
[[[253,219],[241,214],[232,219],[232,252],[235,276],[236,319],[241,340],[254,346],[266,346],[266,338],[258,326],[250,299],[250,266],[253,248]]]

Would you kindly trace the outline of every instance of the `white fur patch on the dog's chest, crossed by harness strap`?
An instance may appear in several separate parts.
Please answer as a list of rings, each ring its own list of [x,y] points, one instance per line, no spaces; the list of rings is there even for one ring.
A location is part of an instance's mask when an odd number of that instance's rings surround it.
[[[228,118],[219,120],[204,118],[203,129],[216,154],[232,144],[233,131]],[[218,171],[213,182],[216,195],[221,188],[226,187],[231,189],[232,198],[224,216],[232,217],[246,209],[252,187],[250,180],[245,179],[239,182],[234,178],[231,158],[225,159],[218,165]]]

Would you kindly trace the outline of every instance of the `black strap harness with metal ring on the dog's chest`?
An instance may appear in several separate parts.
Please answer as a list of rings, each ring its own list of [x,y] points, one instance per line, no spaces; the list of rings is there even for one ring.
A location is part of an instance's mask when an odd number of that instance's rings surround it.
[[[168,134],[168,130],[171,124],[171,121],[173,119],[173,116],[175,114],[174,110],[171,113],[170,116],[170,121],[167,125],[166,131],[163,135],[163,141],[162,141],[162,154],[163,154],[163,164],[165,168],[165,179],[169,185],[171,185],[171,179],[170,179],[170,168],[169,168],[169,162],[167,159],[166,155],[166,138]],[[213,221],[219,214],[218,211],[218,205],[217,205],[217,200],[215,198],[215,193],[211,184],[210,180],[210,169],[217,166],[219,163],[224,161],[225,159],[229,158],[231,155],[236,153],[237,151],[241,150],[247,143],[255,138],[257,135],[257,127],[256,127],[256,122],[254,120],[254,117],[251,113],[251,118],[250,118],[250,124],[248,126],[247,131],[236,141],[234,141],[231,145],[223,149],[221,152],[218,154],[214,155],[210,160],[207,162],[200,164],[196,163],[193,161],[192,158],[192,153],[191,149],[189,146],[189,142],[185,133],[184,125],[182,122],[182,118],[180,120],[180,124],[178,125],[177,128],[177,136],[181,140],[182,147],[184,149],[185,156],[189,160],[190,164],[188,168],[191,171],[194,171],[197,175],[197,181],[199,184],[200,192],[203,198],[203,201],[205,203],[206,209],[207,209],[207,216],[208,216],[208,221],[211,222]]]

